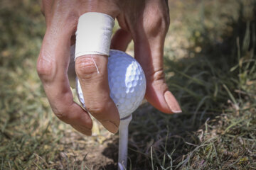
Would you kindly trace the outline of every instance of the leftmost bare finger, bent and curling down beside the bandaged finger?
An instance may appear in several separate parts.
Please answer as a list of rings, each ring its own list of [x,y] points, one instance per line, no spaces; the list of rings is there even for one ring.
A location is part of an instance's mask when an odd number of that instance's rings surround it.
[[[72,25],[53,22],[48,26],[38,57],[37,70],[55,115],[74,127],[81,126],[84,130],[79,129],[80,132],[90,135],[92,129],[90,115],[73,101],[68,82]]]

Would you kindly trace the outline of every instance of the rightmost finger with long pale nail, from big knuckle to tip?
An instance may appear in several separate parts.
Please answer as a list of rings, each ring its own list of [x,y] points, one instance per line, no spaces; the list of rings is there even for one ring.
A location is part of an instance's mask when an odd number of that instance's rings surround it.
[[[142,64],[146,76],[146,99],[155,108],[164,113],[181,113],[176,98],[168,89],[164,80],[163,53],[164,39],[168,30],[163,17],[153,17],[143,21],[142,26],[134,30],[134,55]]]

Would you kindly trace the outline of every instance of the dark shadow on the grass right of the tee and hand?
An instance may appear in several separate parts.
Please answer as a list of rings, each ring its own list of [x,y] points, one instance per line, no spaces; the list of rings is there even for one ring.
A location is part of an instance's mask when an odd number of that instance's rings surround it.
[[[238,69],[231,69],[238,64],[238,50],[245,55],[243,52],[254,49],[253,42],[250,39],[247,42],[247,38],[252,39],[255,35],[255,19],[246,21],[242,10],[241,4],[238,20],[223,16],[229,18],[228,30],[223,32],[220,42],[210,40],[210,30],[204,29],[201,32],[203,41],[196,40],[201,52],[195,53],[191,47],[188,51],[193,57],[176,61],[165,57],[167,83],[181,103],[183,113],[166,115],[149,103],[133,113],[129,126],[128,169],[186,164],[189,154],[202,142],[205,125],[217,125],[220,114],[232,104],[228,91],[235,91],[240,86],[230,81],[239,77]],[[117,146],[115,140],[102,154],[117,160],[117,154],[113,154]]]

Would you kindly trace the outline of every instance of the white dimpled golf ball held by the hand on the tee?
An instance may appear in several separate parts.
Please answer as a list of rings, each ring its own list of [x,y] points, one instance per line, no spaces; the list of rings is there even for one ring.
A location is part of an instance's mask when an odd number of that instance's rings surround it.
[[[139,62],[127,53],[110,50],[107,63],[110,97],[119,111],[120,118],[132,114],[142,103],[146,92],[146,78]],[[80,103],[85,108],[80,82],[76,80]]]

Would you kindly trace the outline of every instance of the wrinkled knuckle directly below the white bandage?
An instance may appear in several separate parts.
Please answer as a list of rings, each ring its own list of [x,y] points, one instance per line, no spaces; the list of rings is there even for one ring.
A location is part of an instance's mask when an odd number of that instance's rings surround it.
[[[91,57],[79,57],[75,60],[75,72],[78,74],[78,77],[81,79],[92,79],[100,76],[100,74],[97,74],[97,67],[100,67],[100,65],[97,64],[99,62],[96,57],[94,61]]]

